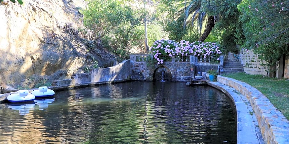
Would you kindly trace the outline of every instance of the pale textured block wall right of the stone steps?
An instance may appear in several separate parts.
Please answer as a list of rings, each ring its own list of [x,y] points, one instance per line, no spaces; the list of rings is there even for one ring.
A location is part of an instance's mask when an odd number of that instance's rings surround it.
[[[244,66],[244,72],[247,74],[267,74],[267,68],[260,66],[261,60],[258,59],[258,55],[255,55],[253,51],[242,49],[240,54],[240,61]]]

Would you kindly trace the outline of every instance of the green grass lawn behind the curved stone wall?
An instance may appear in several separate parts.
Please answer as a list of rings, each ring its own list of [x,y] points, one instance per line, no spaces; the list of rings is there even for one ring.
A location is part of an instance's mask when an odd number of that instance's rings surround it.
[[[285,81],[286,79],[263,78],[262,75],[245,73],[224,74],[222,76],[234,78],[255,87],[289,119],[289,81]]]

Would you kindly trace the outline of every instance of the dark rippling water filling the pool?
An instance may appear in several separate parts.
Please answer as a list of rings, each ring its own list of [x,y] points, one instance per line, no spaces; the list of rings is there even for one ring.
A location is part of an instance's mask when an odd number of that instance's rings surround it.
[[[0,104],[0,143],[236,143],[228,98],[208,86],[125,82]]]

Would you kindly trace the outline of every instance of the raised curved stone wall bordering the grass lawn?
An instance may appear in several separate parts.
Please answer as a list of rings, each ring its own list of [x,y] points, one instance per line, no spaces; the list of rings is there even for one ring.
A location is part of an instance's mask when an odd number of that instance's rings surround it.
[[[266,143],[289,143],[289,121],[259,90],[245,82],[218,75],[218,82],[228,85],[250,102]]]

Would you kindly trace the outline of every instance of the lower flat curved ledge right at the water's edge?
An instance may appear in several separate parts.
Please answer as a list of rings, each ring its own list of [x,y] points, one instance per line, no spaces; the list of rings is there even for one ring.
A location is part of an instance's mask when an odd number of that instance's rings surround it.
[[[237,115],[237,143],[263,144],[264,140],[256,116],[246,97],[236,89],[220,82],[207,81],[207,83],[225,93],[234,103]]]

